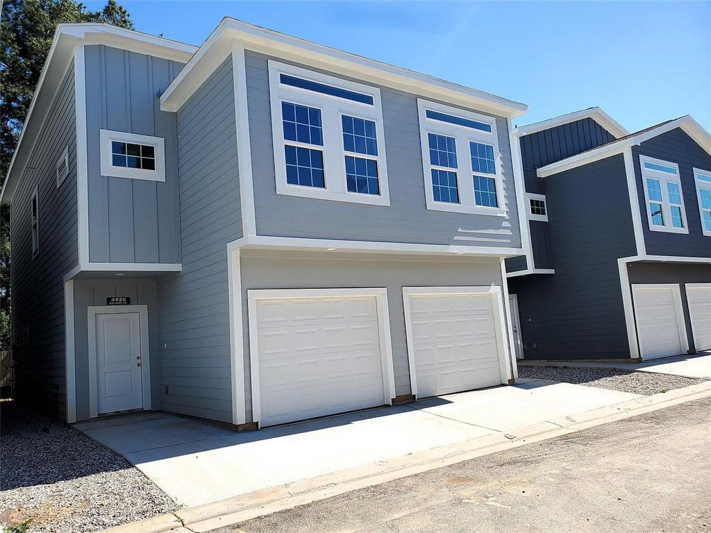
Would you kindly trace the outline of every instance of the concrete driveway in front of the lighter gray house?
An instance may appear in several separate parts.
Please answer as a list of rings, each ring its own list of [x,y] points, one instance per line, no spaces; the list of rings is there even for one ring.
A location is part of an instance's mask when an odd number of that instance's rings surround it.
[[[242,434],[161,413],[97,419],[75,427],[121,453],[174,500],[192,507],[638,397],[538,380]]]

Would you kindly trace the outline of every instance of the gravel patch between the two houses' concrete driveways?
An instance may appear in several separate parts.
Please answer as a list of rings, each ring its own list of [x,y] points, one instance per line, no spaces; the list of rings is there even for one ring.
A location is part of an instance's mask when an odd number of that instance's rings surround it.
[[[518,367],[518,377],[551,379],[632,394],[656,394],[702,383],[703,379],[602,368]]]

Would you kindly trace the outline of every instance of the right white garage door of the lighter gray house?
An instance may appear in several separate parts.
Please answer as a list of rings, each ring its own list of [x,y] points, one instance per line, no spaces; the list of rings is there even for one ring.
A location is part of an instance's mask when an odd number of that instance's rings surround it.
[[[403,289],[407,349],[410,367],[415,368],[412,381],[417,397],[501,384],[501,360],[506,353],[501,346],[501,296],[490,290]]]

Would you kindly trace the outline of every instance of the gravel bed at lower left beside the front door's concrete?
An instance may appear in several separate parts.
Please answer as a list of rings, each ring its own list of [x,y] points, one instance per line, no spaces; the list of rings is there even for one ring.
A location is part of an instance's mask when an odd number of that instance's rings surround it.
[[[92,532],[176,510],[137,468],[69,426],[2,402],[0,523]]]

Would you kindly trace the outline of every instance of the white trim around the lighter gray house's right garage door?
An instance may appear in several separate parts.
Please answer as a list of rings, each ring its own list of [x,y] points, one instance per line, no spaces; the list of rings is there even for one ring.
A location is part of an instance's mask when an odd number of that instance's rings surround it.
[[[407,337],[407,364],[410,367],[410,389],[417,398],[417,370],[415,362],[415,340],[412,333],[412,316],[410,311],[410,297],[417,295],[436,294],[489,294],[493,301],[493,318],[496,327],[496,342],[499,349],[498,365],[501,373],[501,383],[508,384],[508,379],[513,378],[515,362],[510,361],[509,345],[510,335],[506,335],[506,311],[500,286],[419,286],[402,287],[402,305],[405,309],[405,335]],[[508,338],[508,340],[507,340]]]

